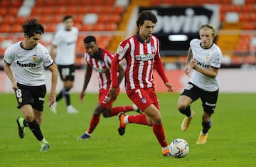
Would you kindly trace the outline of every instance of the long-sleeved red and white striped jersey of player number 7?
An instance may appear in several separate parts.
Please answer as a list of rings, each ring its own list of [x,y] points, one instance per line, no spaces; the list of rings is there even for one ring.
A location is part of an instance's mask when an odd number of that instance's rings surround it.
[[[160,60],[159,40],[156,36],[151,36],[149,41],[145,43],[137,33],[122,41],[113,61],[117,63],[123,58],[127,60],[127,68],[125,70],[126,90],[154,87],[154,67],[158,72],[160,71],[159,75],[164,82],[168,82]],[[117,66],[117,64],[114,66]],[[116,72],[116,70],[114,69],[113,72]],[[112,85],[117,87],[116,73],[112,73],[112,75]]]

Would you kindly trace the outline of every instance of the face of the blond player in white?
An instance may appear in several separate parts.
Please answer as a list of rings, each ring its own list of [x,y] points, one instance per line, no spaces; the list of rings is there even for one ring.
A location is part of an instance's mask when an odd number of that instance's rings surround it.
[[[210,46],[213,44],[213,31],[210,30],[210,28],[202,28],[199,31],[199,35],[201,38],[201,46],[203,48],[210,48]]]

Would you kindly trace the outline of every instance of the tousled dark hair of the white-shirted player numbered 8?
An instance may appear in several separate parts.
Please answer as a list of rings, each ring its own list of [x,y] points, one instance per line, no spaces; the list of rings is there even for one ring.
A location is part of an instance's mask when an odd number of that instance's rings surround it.
[[[23,33],[28,37],[35,36],[35,34],[43,34],[44,28],[41,23],[38,23],[35,18],[26,21],[22,25]]]

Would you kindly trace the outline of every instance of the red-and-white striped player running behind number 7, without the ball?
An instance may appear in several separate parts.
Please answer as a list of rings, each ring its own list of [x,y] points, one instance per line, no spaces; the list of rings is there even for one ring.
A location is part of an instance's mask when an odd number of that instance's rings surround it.
[[[90,139],[90,136],[92,136],[92,132],[95,130],[97,124],[99,124],[100,122],[100,114],[102,114],[103,117],[113,117],[114,115],[117,115],[120,112],[129,112],[129,111],[139,112],[139,108],[134,104],[130,106],[121,106],[121,107],[112,108],[112,104],[114,100],[117,98],[117,96],[111,99],[110,97],[107,96],[107,94],[112,84],[110,68],[111,68],[112,58],[114,57],[114,55],[110,53],[108,50],[99,48],[97,46],[97,42],[94,36],[87,36],[84,39],[84,44],[85,44],[85,50],[87,50],[87,53],[85,53],[85,62],[87,63],[87,66],[86,66],[86,72],[85,72],[84,85],[80,93],[80,102],[82,102],[82,99],[85,96],[85,90],[92,76],[92,69],[95,69],[95,71],[97,72],[100,93],[99,93],[99,102],[92,114],[89,128],[87,129],[87,131],[85,131],[85,134],[82,134],[82,136],[78,138],[78,140]],[[122,68],[122,65],[117,65],[117,68],[119,72],[119,75],[118,75],[118,85],[119,85],[119,83],[122,81],[124,77],[124,69]]]

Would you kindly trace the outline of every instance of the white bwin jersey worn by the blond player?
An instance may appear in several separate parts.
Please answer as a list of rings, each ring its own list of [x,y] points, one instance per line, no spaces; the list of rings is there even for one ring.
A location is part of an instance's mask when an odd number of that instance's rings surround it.
[[[218,45],[213,45],[210,48],[202,48],[201,40],[193,39],[190,43],[193,53],[193,59],[196,60],[197,65],[206,70],[210,70],[210,67],[220,68],[222,53]],[[219,81],[218,77],[215,78],[203,75],[197,70],[193,70],[190,82],[200,87],[202,90],[215,91],[218,90]]]

